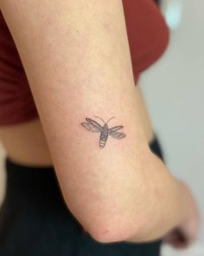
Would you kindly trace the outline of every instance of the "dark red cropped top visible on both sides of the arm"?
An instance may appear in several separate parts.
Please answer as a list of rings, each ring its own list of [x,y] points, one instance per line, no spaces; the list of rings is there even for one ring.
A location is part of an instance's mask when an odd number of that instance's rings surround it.
[[[135,80],[163,54],[169,30],[153,0],[124,0]],[[0,125],[38,116],[16,45],[0,12]]]

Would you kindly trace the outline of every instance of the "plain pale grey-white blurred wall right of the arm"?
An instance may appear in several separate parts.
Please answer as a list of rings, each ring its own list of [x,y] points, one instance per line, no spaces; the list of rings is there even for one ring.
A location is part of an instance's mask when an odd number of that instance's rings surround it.
[[[204,1],[164,2],[182,3],[181,25],[172,31],[165,56],[140,83],[168,166],[188,182],[204,216]],[[185,255],[204,255],[204,226],[199,243],[195,254]]]

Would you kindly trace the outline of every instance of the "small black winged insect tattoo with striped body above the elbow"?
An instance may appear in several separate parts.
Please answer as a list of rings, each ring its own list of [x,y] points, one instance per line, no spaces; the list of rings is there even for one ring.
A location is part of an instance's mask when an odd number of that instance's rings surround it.
[[[100,133],[99,137],[99,148],[104,148],[106,141],[108,139],[108,136],[112,136],[112,138],[121,140],[125,137],[125,135],[121,132],[118,132],[118,130],[124,128],[122,125],[120,126],[115,126],[113,128],[108,128],[108,122],[111,121],[112,118],[110,118],[108,121],[104,121],[102,118],[98,116],[94,116],[96,118],[99,118],[101,121],[104,122],[104,125],[101,126],[97,121],[94,121],[90,118],[86,118],[86,121],[81,122],[81,125],[83,128],[86,128],[87,131],[92,132],[92,133]]]

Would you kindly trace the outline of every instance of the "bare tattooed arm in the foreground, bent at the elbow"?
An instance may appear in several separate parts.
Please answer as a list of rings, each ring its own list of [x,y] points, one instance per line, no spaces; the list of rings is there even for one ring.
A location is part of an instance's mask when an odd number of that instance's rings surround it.
[[[121,1],[0,0],[35,98],[61,191],[101,242],[154,240],[177,226],[188,192],[150,153],[139,119]],[[137,31],[136,31],[137,33]],[[86,118],[111,134],[99,148]],[[95,128],[96,129],[96,128]],[[99,127],[98,127],[99,129]]]

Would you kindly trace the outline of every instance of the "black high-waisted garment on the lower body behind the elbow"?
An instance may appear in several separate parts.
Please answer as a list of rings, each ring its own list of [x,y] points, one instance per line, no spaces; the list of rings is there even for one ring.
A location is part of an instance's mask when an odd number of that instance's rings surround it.
[[[163,159],[155,139],[151,150]],[[53,167],[28,167],[6,156],[0,209],[1,256],[158,256],[162,241],[102,244],[83,232],[62,199]]]

